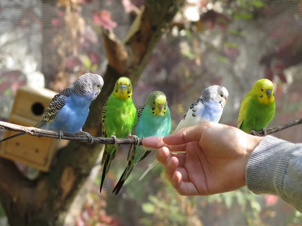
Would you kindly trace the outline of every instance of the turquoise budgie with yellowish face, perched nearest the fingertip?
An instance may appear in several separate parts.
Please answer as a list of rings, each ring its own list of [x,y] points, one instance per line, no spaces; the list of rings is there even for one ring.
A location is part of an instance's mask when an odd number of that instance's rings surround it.
[[[149,94],[145,104],[137,111],[138,120],[133,134],[138,137],[166,136],[171,132],[171,115],[166,95],[161,91]],[[134,166],[149,155],[152,149],[132,144],[128,153],[128,166],[120,177],[113,192],[118,194]]]

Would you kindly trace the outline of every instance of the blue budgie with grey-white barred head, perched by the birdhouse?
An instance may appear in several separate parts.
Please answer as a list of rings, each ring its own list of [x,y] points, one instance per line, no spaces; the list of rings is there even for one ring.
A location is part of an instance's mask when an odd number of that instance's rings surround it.
[[[55,95],[36,128],[59,132],[59,139],[65,133],[82,133],[93,143],[93,137],[82,130],[89,114],[89,106],[101,93],[104,81],[101,76],[86,73],[80,76],[71,86]],[[25,132],[7,137],[3,142],[14,137],[24,135]]]

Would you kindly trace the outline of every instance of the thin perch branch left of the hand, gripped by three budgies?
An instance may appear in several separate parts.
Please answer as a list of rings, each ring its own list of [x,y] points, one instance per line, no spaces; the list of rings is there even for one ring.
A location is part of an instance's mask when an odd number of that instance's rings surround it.
[[[16,125],[8,122],[2,122],[0,121],[0,128],[1,129],[7,129],[12,131],[18,131],[18,132],[26,132],[27,134],[30,134],[32,136],[43,136],[43,137],[49,137],[49,138],[59,138],[58,132],[53,132],[45,129],[38,129],[35,127],[26,127],[21,125]],[[78,140],[81,142],[89,142],[89,139],[87,136],[83,134],[69,134],[69,133],[63,133],[62,139],[65,140]],[[135,144],[134,138],[118,138],[119,144]],[[141,143],[142,139],[139,139],[139,144]],[[102,144],[114,144],[113,138],[106,138],[106,137],[93,137],[94,143],[102,143]]]

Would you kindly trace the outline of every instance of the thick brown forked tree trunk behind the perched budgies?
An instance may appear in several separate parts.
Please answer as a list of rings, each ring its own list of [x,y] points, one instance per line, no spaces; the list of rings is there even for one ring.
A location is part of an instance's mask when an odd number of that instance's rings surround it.
[[[101,134],[102,108],[116,80],[120,76],[128,76],[135,86],[166,24],[184,1],[146,0],[141,14],[128,31],[125,44],[112,32],[103,30],[108,58],[107,71],[103,76],[105,85],[91,104],[84,131],[93,136]],[[49,72],[47,64],[43,68],[44,73]],[[0,158],[0,202],[10,225],[62,225],[71,201],[89,176],[101,149],[102,145],[70,141],[58,151],[50,172],[42,174],[36,181],[27,180],[13,162]]]

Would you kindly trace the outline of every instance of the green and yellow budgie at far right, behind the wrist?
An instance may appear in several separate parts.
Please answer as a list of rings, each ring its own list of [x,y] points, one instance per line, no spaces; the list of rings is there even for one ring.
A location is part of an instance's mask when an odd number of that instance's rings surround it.
[[[256,131],[262,130],[265,136],[265,127],[272,121],[274,115],[273,83],[268,79],[258,80],[241,102],[237,128],[257,136],[259,134]]]

